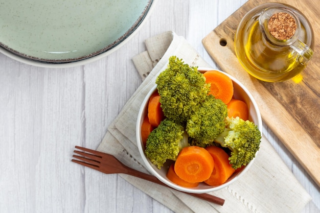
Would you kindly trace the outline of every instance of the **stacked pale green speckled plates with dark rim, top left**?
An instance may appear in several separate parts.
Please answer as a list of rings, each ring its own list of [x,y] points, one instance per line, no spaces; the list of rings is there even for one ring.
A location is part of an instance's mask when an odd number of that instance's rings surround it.
[[[0,52],[23,62],[44,64],[106,55],[141,25],[153,3],[0,0]]]

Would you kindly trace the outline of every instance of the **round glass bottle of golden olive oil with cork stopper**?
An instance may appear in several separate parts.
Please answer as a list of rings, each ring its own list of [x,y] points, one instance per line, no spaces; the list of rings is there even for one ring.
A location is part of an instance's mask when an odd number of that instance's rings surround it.
[[[313,54],[309,48],[312,30],[295,13],[269,3],[243,17],[235,35],[235,50],[250,75],[278,82],[291,79],[306,67]]]

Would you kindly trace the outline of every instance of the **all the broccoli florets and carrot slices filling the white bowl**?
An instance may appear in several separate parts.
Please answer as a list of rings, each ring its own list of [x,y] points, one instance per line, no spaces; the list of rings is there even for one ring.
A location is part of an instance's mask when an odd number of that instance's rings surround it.
[[[258,126],[234,98],[233,81],[216,70],[200,73],[176,56],[156,78],[141,135],[146,156],[167,178],[186,187],[224,183],[256,155]]]

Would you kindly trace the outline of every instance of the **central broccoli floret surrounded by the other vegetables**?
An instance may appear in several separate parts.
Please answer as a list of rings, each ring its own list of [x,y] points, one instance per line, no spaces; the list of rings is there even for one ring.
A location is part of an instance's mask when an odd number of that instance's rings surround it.
[[[207,96],[201,107],[187,121],[186,131],[189,137],[193,138],[191,145],[212,145],[213,140],[225,129],[226,116],[226,105],[211,94]]]

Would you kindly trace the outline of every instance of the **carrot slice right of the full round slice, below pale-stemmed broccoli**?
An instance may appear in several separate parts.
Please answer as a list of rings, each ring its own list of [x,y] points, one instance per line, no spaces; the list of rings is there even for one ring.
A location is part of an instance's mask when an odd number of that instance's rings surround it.
[[[233,169],[232,165],[229,163],[228,154],[220,147],[210,146],[205,149],[213,157],[215,166],[210,178],[204,182],[212,186],[225,183],[225,181],[235,172],[235,169]]]

